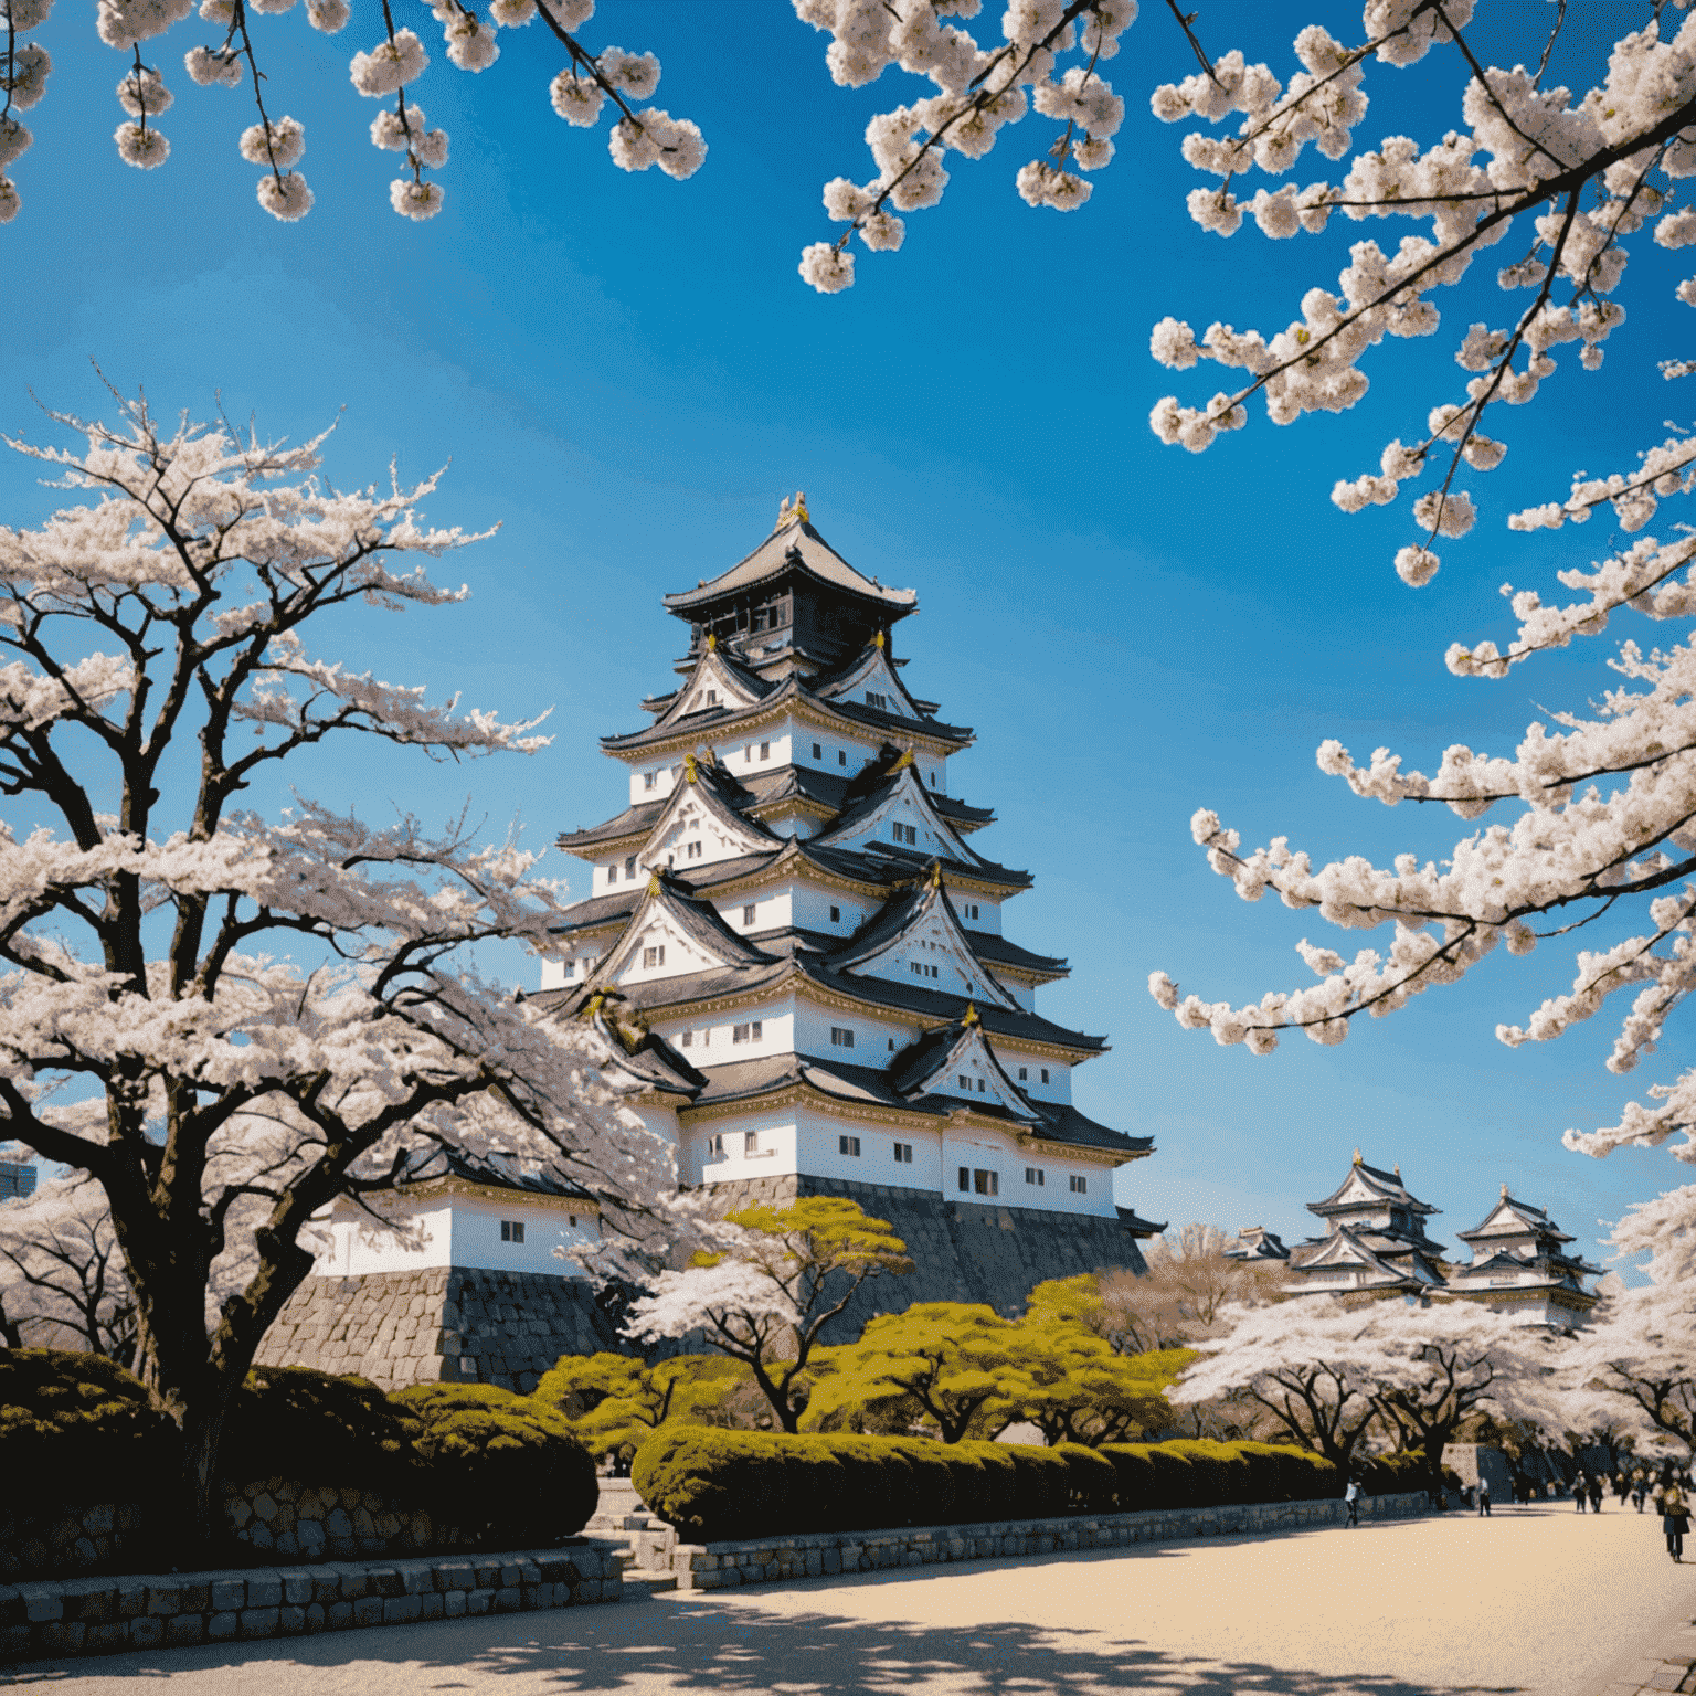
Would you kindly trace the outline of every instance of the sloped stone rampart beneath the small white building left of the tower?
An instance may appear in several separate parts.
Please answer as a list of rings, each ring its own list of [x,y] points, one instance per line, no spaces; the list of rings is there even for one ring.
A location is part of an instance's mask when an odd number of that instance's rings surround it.
[[[458,1382],[527,1392],[560,1355],[629,1348],[583,1279],[429,1267],[309,1277],[258,1364],[358,1372],[378,1389]]]

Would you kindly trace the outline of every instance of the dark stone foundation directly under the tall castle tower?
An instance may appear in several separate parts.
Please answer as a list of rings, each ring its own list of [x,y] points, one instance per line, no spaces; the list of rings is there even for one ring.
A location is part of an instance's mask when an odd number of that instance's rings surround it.
[[[889,1219],[912,1255],[912,1275],[868,1279],[828,1330],[831,1343],[851,1342],[867,1319],[901,1313],[916,1301],[985,1303],[1016,1318],[1029,1292],[1048,1279],[1106,1267],[1146,1270],[1136,1238],[1118,1219],[1091,1214],[950,1201],[890,1184],[795,1174],[714,1184],[711,1196],[722,1213],[758,1201],[782,1208],[797,1196],[843,1196],[872,1218]]]

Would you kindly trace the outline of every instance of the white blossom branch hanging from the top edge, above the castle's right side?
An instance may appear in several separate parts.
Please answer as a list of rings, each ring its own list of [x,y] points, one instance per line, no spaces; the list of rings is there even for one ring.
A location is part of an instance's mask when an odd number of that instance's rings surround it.
[[[873,253],[901,246],[906,224],[895,214],[936,205],[948,187],[945,154],[980,159],[1001,129],[1028,112],[1063,122],[1046,158],[1023,165],[1019,197],[1033,207],[1070,212],[1084,205],[1097,171],[1113,158],[1113,136],[1124,102],[1099,73],[1119,51],[1119,36],[1136,19],[1136,0],[1009,0],[1001,42],[980,46],[970,31],[945,19],[970,19],[979,0],[794,0],[795,14],[824,31],[824,63],[846,88],[875,81],[890,66],[926,78],[936,92],[880,112],[867,126],[877,175],[865,183],[836,176],[824,185],[824,210],[848,231],[812,243],[801,256],[802,278],[821,293],[840,293],[855,278],[848,236],[858,232]],[[1058,68],[1062,54],[1082,63]]]

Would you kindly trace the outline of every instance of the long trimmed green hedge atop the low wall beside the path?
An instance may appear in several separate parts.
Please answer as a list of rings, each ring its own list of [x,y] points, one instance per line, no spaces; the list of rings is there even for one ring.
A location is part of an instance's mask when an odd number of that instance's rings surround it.
[[[692,1542],[1068,1513],[1318,1501],[1343,1492],[1318,1455],[1270,1443],[938,1443],[661,1426],[636,1450],[641,1499]]]

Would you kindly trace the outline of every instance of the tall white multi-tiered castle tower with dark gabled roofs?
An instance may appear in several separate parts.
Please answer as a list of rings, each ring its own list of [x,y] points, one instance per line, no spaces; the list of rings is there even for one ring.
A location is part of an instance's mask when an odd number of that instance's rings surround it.
[[[689,626],[680,682],[600,741],[629,804],[560,838],[592,894],[538,999],[594,1024],[680,1184],[724,1204],[846,1194],[899,1231],[929,1197],[1014,1235],[1074,1226],[1074,1258],[1036,1275],[1140,1267],[1162,1226],[1114,1206],[1113,1172],[1152,1138],[1072,1104],[1106,1040],[1036,1009],[1067,963],[1004,933],[1031,877],[972,846],[994,812],[950,762],[974,733],[895,655],[914,590],[855,570],[795,495],[663,604]]]

